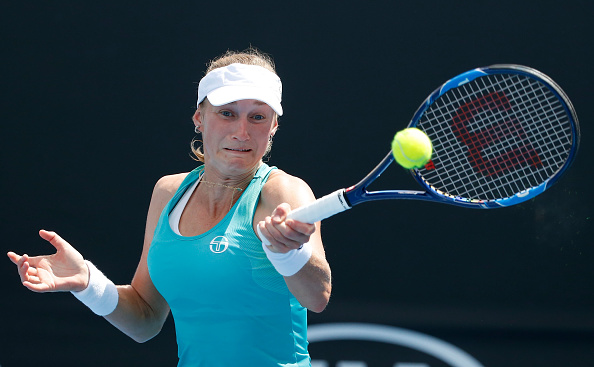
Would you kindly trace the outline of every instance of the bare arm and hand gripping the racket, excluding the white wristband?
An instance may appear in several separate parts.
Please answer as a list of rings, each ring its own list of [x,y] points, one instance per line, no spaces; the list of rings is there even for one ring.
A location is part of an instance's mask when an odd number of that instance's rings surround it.
[[[312,246],[308,262],[296,274],[284,278],[289,290],[303,307],[322,312],[330,299],[332,284],[320,223],[308,224],[287,219],[291,208],[314,200],[313,192],[303,180],[275,171],[262,189],[254,226],[258,226],[270,242],[268,249],[272,252],[287,253],[306,242]]]

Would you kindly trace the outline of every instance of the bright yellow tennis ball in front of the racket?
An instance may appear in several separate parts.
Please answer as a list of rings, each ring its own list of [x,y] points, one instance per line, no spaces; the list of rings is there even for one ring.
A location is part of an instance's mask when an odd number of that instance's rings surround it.
[[[423,131],[409,127],[394,135],[392,154],[396,162],[406,169],[421,168],[433,152],[431,140]]]

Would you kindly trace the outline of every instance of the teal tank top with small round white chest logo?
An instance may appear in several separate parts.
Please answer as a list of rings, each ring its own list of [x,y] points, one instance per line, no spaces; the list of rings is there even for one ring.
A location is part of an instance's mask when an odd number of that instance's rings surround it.
[[[307,310],[274,269],[252,223],[263,164],[225,218],[206,233],[177,235],[169,213],[200,177],[190,172],[161,213],[148,268],[175,322],[178,366],[310,366]]]

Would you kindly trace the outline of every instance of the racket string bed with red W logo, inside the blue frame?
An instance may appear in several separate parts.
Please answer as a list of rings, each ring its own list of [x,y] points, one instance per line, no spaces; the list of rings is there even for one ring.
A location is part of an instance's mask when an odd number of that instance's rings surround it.
[[[568,158],[571,121],[559,97],[520,74],[495,74],[449,90],[418,125],[434,145],[432,169],[419,174],[434,190],[496,200],[545,182]]]

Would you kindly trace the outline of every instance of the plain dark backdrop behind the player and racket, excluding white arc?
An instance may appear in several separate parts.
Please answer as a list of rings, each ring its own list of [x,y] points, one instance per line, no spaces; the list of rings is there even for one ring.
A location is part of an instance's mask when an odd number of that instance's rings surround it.
[[[556,80],[578,112],[567,175],[507,209],[378,202],[326,220],[334,292],[310,323],[416,330],[485,366],[594,366],[593,14],[586,0],[4,2],[2,250],[47,253],[37,232],[55,230],[128,283],[154,183],[196,166],[197,82],[227,49],[275,58],[285,115],[269,164],[317,196],[375,166],[448,78],[523,64]],[[376,185],[416,189],[397,167]],[[171,319],[136,344],[70,294],[27,291],[7,258],[0,275],[2,367],[177,363]],[[375,357],[349,358],[382,365]]]

